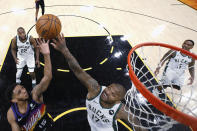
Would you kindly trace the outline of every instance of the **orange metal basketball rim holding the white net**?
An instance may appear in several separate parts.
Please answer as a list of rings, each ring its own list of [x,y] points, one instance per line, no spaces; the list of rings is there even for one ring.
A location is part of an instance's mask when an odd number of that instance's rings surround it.
[[[180,112],[176,109],[174,109],[173,107],[167,105],[166,103],[162,102],[161,100],[159,100],[157,97],[155,97],[141,82],[140,80],[137,78],[137,76],[135,75],[134,71],[133,71],[133,67],[131,65],[131,54],[134,53],[134,51],[137,48],[140,48],[142,46],[161,46],[161,47],[166,47],[166,48],[170,48],[176,51],[180,51],[190,57],[192,57],[193,59],[197,60],[197,56],[190,53],[189,51],[183,50],[181,48],[178,48],[176,46],[172,46],[172,45],[168,45],[168,44],[163,44],[163,43],[142,43],[142,44],[138,44],[135,47],[133,47],[128,54],[127,57],[127,62],[128,62],[128,66],[129,66],[129,76],[132,80],[132,82],[134,83],[134,85],[136,86],[136,88],[138,89],[138,91],[154,106],[156,107],[158,110],[160,110],[161,112],[163,112],[164,114],[166,114],[167,116],[170,116],[171,118],[177,120],[180,123],[183,123],[185,125],[191,126],[192,129],[194,131],[197,131],[197,118],[187,115],[183,112]]]

